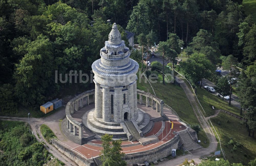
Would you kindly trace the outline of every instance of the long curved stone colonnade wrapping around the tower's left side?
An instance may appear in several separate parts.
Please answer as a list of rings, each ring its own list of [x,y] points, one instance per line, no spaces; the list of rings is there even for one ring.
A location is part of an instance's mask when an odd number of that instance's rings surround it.
[[[78,111],[80,108],[83,108],[86,105],[89,105],[89,96],[93,95],[93,101],[94,101],[94,92],[95,90],[89,90],[85,91],[71,100],[66,105],[66,124],[69,131],[74,134],[78,135],[79,139],[83,138],[83,123],[76,121],[71,114],[74,113],[74,111]],[[77,133],[78,130],[78,133]]]

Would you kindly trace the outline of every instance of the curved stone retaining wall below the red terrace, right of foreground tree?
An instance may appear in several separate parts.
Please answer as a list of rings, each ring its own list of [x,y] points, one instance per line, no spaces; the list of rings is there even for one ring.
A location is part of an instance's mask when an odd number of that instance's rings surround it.
[[[153,162],[160,160],[172,154],[172,149],[179,148],[179,137],[176,135],[174,138],[169,140],[167,143],[156,147],[155,149],[142,151],[133,154],[127,154],[124,156],[124,160],[127,165],[134,163],[142,163],[143,161]]]

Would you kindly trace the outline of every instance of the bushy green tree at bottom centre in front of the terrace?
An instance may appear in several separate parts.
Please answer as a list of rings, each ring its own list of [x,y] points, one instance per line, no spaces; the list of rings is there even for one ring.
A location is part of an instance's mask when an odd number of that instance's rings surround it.
[[[122,140],[112,141],[113,135],[105,134],[101,137],[102,147],[101,150],[101,161],[103,166],[112,166],[112,165],[120,165],[125,166],[126,162],[122,160],[124,156],[124,152],[122,151],[121,144]],[[110,147],[110,146],[113,147]]]

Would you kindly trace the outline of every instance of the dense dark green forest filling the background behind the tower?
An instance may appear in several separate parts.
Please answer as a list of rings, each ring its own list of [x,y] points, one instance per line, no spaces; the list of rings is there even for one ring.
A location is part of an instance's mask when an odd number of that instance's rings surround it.
[[[256,25],[242,0],[1,0],[0,111],[39,108],[60,92],[87,84],[55,83],[55,71],[89,73],[116,22],[135,33],[135,43],[179,40],[187,54],[204,54],[213,65],[221,55],[237,58],[255,78]],[[143,35],[142,35],[143,34]],[[179,53],[180,50],[175,50]],[[244,77],[250,77],[244,75]],[[250,77],[250,78],[252,78]],[[74,78],[73,78],[74,79]],[[248,85],[250,86],[250,85]]]

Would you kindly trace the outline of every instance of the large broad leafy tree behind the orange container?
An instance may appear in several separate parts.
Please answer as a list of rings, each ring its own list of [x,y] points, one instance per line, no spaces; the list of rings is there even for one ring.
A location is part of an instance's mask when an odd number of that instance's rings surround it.
[[[56,94],[58,86],[54,83],[54,70],[57,68],[52,51],[49,39],[39,35],[37,40],[27,44],[27,53],[16,65],[15,91],[24,106],[40,105],[46,96]]]

